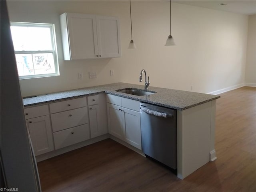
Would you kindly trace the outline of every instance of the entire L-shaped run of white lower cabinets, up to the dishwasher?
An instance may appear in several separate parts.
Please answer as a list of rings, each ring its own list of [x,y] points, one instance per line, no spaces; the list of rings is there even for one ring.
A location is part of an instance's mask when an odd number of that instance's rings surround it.
[[[135,100],[100,93],[28,107],[25,114],[36,156],[107,133],[141,149]]]

